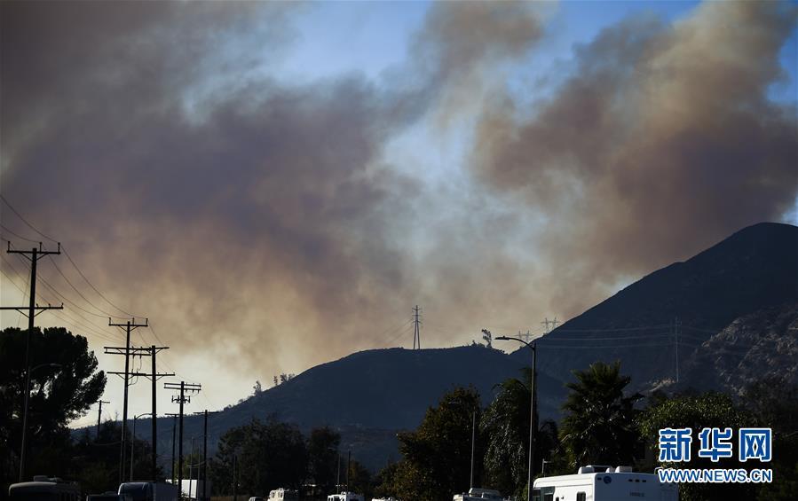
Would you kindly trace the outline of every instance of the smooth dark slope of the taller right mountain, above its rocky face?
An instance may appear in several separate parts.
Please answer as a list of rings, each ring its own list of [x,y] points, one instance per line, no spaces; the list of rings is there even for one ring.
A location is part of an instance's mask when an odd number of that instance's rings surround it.
[[[538,341],[538,360],[543,371],[561,382],[570,380],[573,369],[594,361],[620,360],[637,390],[677,377],[680,387],[706,387],[706,374],[683,370],[699,345],[738,318],[794,304],[798,228],[755,224],[686,262],[654,271],[565,322]],[[518,350],[513,356],[521,361],[526,354]],[[717,356],[718,367],[739,363],[728,353]]]

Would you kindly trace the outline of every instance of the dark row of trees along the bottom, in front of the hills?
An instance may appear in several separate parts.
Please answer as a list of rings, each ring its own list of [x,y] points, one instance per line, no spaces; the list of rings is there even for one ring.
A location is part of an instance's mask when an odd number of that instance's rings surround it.
[[[19,472],[20,426],[27,331],[8,328],[0,334],[0,499]],[[68,423],[99,400],[106,376],[83,336],[66,329],[36,328],[31,335],[28,471],[79,481],[84,492],[102,492],[118,485],[121,430],[103,423],[75,435]],[[52,365],[52,364],[57,364]],[[635,466],[652,472],[660,465],[658,430],[665,427],[771,427],[773,470],[770,484],[683,484],[683,501],[798,499],[798,387],[760,381],[732,398],[721,393],[684,392],[648,396],[630,394],[630,379],[620,364],[591,364],[575,371],[559,422],[534,419],[533,474],[573,474],[578,466]],[[367,496],[405,500],[451,499],[465,492],[471,478],[471,437],[474,427],[474,485],[499,489],[506,496],[525,498],[530,429],[530,373],[497,385],[494,399],[483,407],[473,387],[442,395],[415,430],[398,434],[400,459],[376,474],[339,449],[341,436],[320,427],[305,436],[295,425],[275,419],[253,420],[228,430],[209,461],[209,477],[218,494],[232,494],[233,479],[242,495],[264,495],[271,489],[308,484],[307,494],[326,496],[348,483]],[[129,438],[130,440],[130,438]],[[134,475],[149,477],[150,444],[133,439],[137,451]],[[750,469],[734,459],[711,463],[699,458],[698,440],[692,460],[680,467]],[[196,460],[185,464],[198,463]],[[235,474],[233,475],[233,467]],[[165,476],[166,472],[160,472]],[[184,473],[188,478],[188,472]],[[196,471],[194,478],[197,477]]]

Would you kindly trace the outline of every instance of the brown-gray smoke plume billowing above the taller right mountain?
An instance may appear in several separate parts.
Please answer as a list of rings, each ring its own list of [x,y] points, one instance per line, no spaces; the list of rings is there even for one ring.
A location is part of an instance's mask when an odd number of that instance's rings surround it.
[[[573,75],[533,113],[509,97],[486,108],[477,174],[549,216],[539,250],[566,315],[624,274],[793,207],[796,116],[768,89],[784,76],[795,15],[712,2],[673,26],[627,20],[581,46]]]

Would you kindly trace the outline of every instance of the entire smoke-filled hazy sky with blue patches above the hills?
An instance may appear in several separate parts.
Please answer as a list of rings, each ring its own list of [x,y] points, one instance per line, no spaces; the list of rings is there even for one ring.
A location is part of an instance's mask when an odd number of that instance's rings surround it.
[[[40,262],[39,301],[67,304],[37,325],[120,370],[107,315],[149,317],[133,342],[202,384],[190,411],[410,346],[415,304],[425,348],[535,331],[798,219],[794,3],[0,10],[0,192],[91,281]],[[24,263],[2,269],[24,304]],[[130,395],[148,411],[146,381]],[[121,412],[120,380],[104,399]]]

